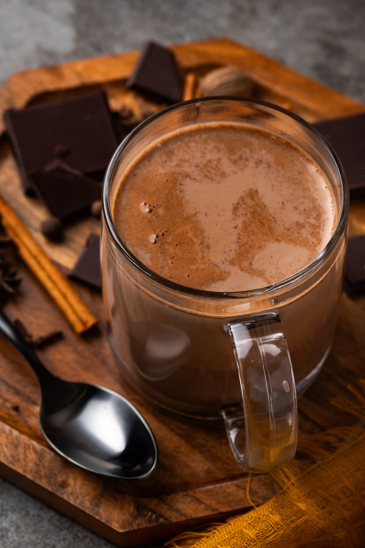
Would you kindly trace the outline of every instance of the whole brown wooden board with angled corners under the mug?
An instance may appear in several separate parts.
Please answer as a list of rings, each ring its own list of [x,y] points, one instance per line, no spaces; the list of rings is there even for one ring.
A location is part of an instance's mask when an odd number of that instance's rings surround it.
[[[172,48],[182,72],[204,74],[211,68],[240,65],[257,82],[255,96],[291,109],[309,122],[365,111],[365,106],[312,81],[274,60],[228,39],[181,44]],[[141,107],[138,96],[124,88],[138,52],[43,67],[11,76],[0,90],[0,119],[9,107],[20,108],[86,89],[105,89],[112,109],[122,104]],[[152,105],[153,108],[153,105]],[[2,121],[0,132],[3,133]],[[62,244],[46,242],[39,232],[48,213],[37,199],[24,196],[7,136],[0,138],[0,191],[33,236],[61,269],[76,259],[99,221],[87,219],[68,227]],[[350,233],[365,233],[365,202],[351,204]],[[67,322],[27,271],[19,298],[6,312],[21,318],[34,335],[62,329],[65,339],[39,351],[49,369],[67,380],[100,383],[122,393],[152,427],[160,459],[152,477],[139,482],[111,481],[69,464],[44,441],[38,426],[38,387],[13,347],[0,340],[0,473],[57,510],[121,546],[169,538],[198,524],[222,521],[248,509],[247,476],[237,469],[221,423],[185,421],[152,407],[126,385],[109,352],[102,322],[83,337]],[[100,295],[74,284],[102,320]],[[343,295],[333,350],[323,370],[299,401],[301,433],[354,424],[355,419],[329,402],[346,394],[346,384],[364,376],[365,297]],[[259,504],[277,492],[268,475],[253,476],[250,494]]]

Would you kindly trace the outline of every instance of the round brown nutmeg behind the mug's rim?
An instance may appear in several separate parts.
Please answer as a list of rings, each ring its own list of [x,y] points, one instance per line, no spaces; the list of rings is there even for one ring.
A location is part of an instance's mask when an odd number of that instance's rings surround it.
[[[208,72],[201,78],[200,95],[236,95],[250,97],[254,82],[242,68],[227,65]]]

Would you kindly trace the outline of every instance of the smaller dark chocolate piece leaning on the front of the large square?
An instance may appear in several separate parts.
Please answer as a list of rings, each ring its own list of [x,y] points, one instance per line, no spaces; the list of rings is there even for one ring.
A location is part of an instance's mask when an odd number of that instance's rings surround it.
[[[101,186],[97,182],[59,159],[33,173],[32,179],[51,214],[60,220],[88,209],[101,198]]]

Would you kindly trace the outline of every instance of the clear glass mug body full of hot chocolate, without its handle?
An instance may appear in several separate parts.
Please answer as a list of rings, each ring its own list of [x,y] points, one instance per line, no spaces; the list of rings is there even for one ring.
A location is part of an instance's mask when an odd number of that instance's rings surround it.
[[[222,406],[242,401],[228,330],[249,320],[252,349],[258,348],[268,333],[253,326],[269,314],[283,335],[266,345],[267,362],[277,362],[285,336],[302,393],[332,344],[345,229],[303,276],[245,290],[303,269],[331,239],[343,183],[326,145],[274,108],[212,99],[152,118],[111,165],[103,299],[123,378],[166,408],[215,418]],[[279,375],[278,390],[283,380]]]

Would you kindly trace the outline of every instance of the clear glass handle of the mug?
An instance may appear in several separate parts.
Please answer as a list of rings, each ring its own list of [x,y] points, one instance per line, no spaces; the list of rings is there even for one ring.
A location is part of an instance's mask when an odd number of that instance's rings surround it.
[[[275,313],[227,326],[237,362],[242,402],[222,415],[237,464],[269,472],[291,460],[297,448],[296,385],[289,350]]]

